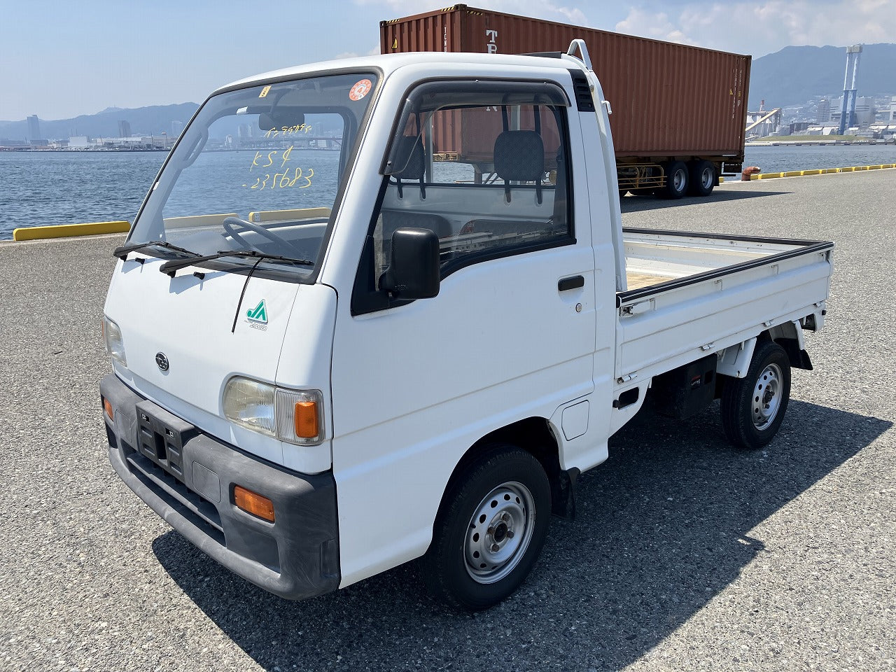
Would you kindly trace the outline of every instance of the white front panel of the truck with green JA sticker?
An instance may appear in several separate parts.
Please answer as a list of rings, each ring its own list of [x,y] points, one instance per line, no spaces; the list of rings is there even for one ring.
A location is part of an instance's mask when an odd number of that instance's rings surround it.
[[[127,358],[116,374],[203,431],[283,463],[279,441],[223,418],[222,396],[234,375],[277,382],[297,293],[310,288],[254,275],[240,303],[246,273],[202,269],[200,279],[186,268],[170,278],[161,263],[149,257],[116,267],[106,314],[121,329]]]

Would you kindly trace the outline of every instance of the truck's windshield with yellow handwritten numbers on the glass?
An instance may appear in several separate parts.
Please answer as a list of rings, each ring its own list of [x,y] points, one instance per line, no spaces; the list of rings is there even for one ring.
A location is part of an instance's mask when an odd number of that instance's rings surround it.
[[[374,73],[329,75],[212,97],[177,143],[128,243],[316,260],[375,82]],[[149,251],[172,256],[170,248]],[[264,266],[313,271],[275,259]]]

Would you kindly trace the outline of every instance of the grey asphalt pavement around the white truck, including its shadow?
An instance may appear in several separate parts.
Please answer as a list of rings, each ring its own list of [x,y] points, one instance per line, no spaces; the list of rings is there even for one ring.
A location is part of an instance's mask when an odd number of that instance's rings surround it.
[[[305,602],[202,555],[116,477],[99,379],[122,237],[0,243],[0,669],[896,668],[896,170],[627,196],[626,226],[833,240],[815,370],[766,450],[718,404],[636,418],[512,599],[470,615],[416,564]]]

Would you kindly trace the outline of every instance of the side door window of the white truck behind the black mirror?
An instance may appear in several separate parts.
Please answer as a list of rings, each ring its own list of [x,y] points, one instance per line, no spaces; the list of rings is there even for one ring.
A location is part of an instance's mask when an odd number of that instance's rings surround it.
[[[443,278],[471,263],[573,243],[567,106],[564,91],[547,83],[430,82],[414,90],[383,161],[358,284],[376,291],[400,227],[435,232]]]

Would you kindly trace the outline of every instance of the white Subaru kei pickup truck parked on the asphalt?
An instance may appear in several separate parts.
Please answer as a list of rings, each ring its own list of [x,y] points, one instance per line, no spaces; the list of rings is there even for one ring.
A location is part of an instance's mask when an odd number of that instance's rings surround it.
[[[482,609],[648,392],[676,418],[720,399],[731,442],[768,444],[833,244],[624,229],[609,111],[581,40],[215,91],[115,251],[118,476],[284,598],[422,558]],[[433,160],[461,116],[476,164]]]

